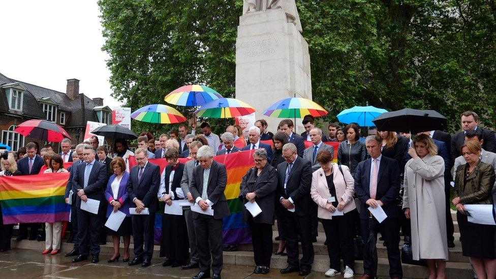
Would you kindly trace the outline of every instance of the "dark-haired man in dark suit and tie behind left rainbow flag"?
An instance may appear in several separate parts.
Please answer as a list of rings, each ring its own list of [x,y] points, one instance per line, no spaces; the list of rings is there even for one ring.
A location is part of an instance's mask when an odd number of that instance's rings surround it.
[[[22,173],[22,175],[33,175],[39,174],[41,167],[44,165],[43,158],[36,156],[38,152],[38,147],[34,142],[29,142],[26,144],[27,157],[22,158],[17,161],[17,170]],[[19,224],[19,236],[16,238],[17,241],[27,238],[27,228],[31,227],[29,233],[29,240],[36,239],[38,234],[38,228],[40,228],[39,223],[26,223]]]

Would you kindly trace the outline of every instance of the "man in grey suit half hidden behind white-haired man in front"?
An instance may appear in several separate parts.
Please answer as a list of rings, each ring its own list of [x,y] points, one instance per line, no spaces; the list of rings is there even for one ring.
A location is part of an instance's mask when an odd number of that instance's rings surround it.
[[[196,153],[198,152],[198,149],[200,147],[202,147],[202,143],[197,140],[192,141],[189,144],[189,149],[190,149],[189,152],[193,157],[193,160],[190,160],[186,162],[186,164],[184,164],[184,171],[182,173],[181,190],[182,193],[184,193],[184,195],[190,202],[195,201],[190,192],[190,184],[191,184],[191,180],[193,179],[193,169],[199,165],[196,158]],[[196,248],[196,234],[195,234],[195,226],[193,224],[193,214],[192,214],[193,212],[191,211],[190,208],[191,207],[189,206],[184,206],[183,213],[184,213],[184,219],[186,220],[186,227],[188,228],[191,260],[188,264],[183,265],[182,269],[198,268],[198,261],[200,260],[198,257],[198,250]]]

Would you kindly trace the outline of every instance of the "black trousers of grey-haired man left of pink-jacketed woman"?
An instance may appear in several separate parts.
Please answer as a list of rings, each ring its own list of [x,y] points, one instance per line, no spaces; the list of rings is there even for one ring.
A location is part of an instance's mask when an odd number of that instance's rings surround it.
[[[311,269],[314,263],[314,245],[312,244],[311,215],[298,216],[294,212],[286,210],[281,214],[281,224],[286,236],[286,250],[288,252],[288,264],[300,268]],[[298,227],[299,226],[299,227]],[[301,237],[301,250],[303,257],[298,263],[298,229]]]

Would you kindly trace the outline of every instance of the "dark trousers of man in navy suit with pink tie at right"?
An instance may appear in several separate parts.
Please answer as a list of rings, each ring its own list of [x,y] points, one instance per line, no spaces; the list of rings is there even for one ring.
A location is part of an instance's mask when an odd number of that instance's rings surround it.
[[[377,232],[381,232],[384,242],[386,243],[388,261],[389,261],[389,276],[391,278],[403,277],[403,271],[401,269],[401,258],[399,256],[399,224],[397,219],[386,218],[382,223],[376,222],[376,236]],[[373,270],[377,270],[377,263],[375,266],[372,265],[370,261],[370,256],[367,251],[367,239],[369,236],[369,220],[360,219],[360,225],[362,228],[362,237],[364,241],[364,252],[363,252],[363,274],[368,274],[370,277],[374,278]],[[377,254],[377,252],[376,252]],[[376,255],[377,256],[377,255]]]

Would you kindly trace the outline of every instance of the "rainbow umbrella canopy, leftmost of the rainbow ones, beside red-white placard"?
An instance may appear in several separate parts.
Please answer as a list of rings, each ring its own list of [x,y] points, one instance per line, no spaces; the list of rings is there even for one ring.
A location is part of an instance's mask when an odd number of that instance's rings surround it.
[[[159,124],[173,124],[186,121],[186,117],[173,107],[166,105],[148,105],[137,109],[131,114],[131,118]]]

